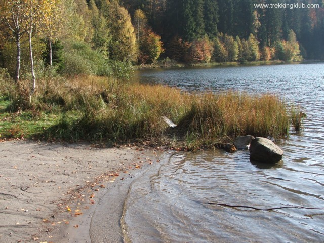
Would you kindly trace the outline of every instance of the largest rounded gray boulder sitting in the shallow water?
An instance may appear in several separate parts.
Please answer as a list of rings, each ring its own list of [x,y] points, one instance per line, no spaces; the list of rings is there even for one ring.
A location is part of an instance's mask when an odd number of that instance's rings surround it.
[[[250,144],[250,160],[264,163],[277,163],[284,151],[267,138],[255,138]]]

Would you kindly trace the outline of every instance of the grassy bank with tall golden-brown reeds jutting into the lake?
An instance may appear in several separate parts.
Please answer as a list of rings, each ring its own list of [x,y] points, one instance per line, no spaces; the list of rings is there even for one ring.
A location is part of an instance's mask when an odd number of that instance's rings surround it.
[[[28,92],[21,92],[28,91],[26,87],[23,81],[19,87],[2,81],[2,138],[140,140],[196,149],[238,135],[285,138],[291,124],[301,129],[298,109],[271,94],[195,95],[164,86],[128,85],[112,78],[55,77],[39,80],[30,104]],[[170,129],[162,116],[178,126]]]

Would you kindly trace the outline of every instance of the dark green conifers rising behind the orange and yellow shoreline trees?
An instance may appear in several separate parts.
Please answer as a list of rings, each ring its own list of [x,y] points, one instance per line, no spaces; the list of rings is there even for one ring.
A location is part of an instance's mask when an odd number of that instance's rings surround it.
[[[322,0],[121,0],[130,13],[141,8],[153,30],[162,36],[165,56],[174,50],[175,37],[195,42],[218,33],[248,40],[253,34],[260,50],[274,52],[294,31],[306,59],[324,59],[324,9]],[[255,4],[317,4],[313,8],[286,6],[261,8]],[[277,55],[272,55],[275,58]]]

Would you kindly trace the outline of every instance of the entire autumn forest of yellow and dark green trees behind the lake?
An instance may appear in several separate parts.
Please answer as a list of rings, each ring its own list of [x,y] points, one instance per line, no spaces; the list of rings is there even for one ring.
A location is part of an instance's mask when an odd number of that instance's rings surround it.
[[[109,75],[116,63],[148,64],[160,56],[186,63],[324,59],[324,1],[285,1],[319,8],[256,6],[278,3],[0,0],[0,65],[16,82],[30,76],[34,89],[36,74],[48,67]]]

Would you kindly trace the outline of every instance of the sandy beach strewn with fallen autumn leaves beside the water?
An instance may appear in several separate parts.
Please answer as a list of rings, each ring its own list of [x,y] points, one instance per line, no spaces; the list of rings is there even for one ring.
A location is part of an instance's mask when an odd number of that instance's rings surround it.
[[[2,142],[0,241],[90,242],[90,222],[101,198],[157,166],[161,154],[136,146]],[[121,194],[114,195],[117,203]],[[113,213],[114,220],[107,220],[113,221],[111,237],[117,239],[119,219]]]

